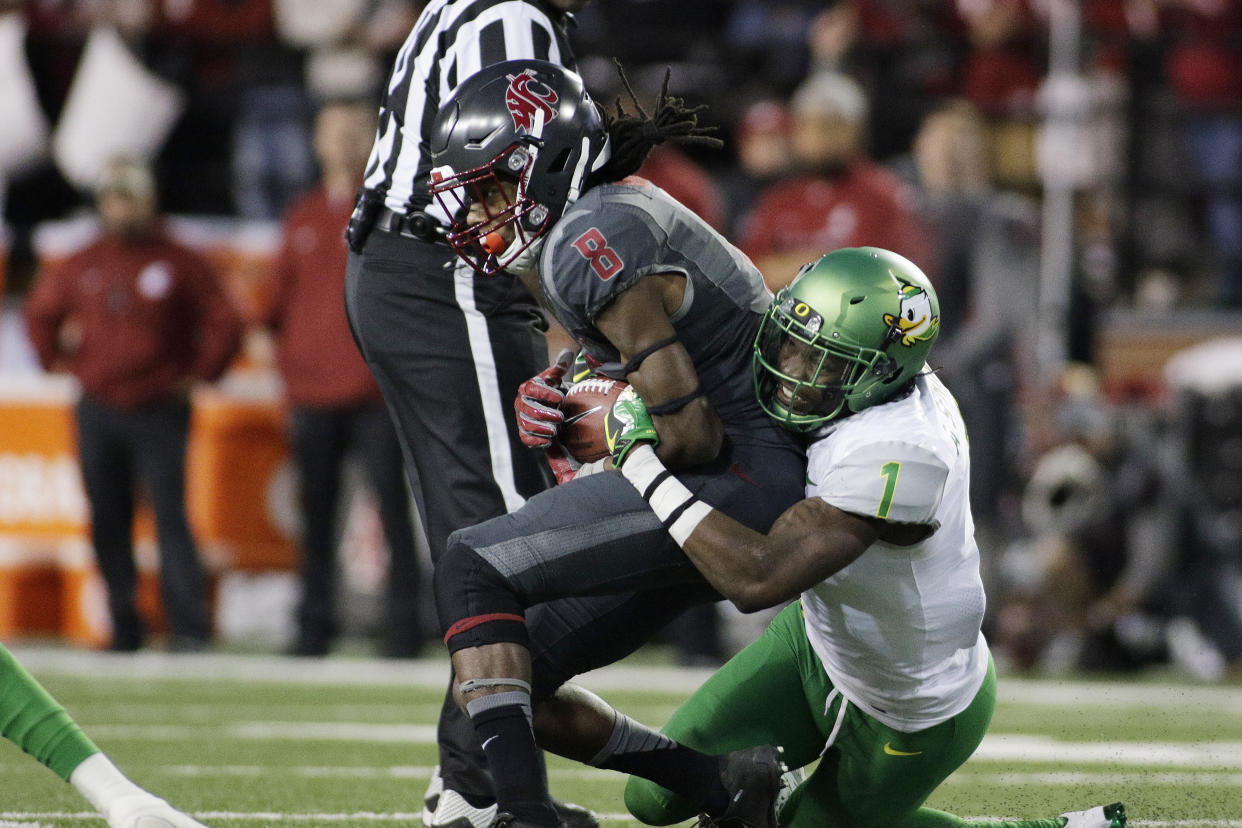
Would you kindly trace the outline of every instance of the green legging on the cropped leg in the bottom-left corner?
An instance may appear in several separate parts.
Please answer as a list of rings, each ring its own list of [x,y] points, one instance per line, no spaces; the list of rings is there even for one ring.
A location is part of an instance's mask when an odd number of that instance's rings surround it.
[[[82,760],[99,752],[4,644],[0,644],[0,735],[66,782]]]

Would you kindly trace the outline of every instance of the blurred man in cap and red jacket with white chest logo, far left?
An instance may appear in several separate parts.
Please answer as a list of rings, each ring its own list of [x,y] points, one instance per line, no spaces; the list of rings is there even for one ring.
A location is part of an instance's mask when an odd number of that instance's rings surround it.
[[[78,452],[114,650],[143,644],[134,605],[134,484],[155,511],[173,650],[207,646],[206,576],[185,513],[190,385],[224,374],[242,320],[201,256],[161,227],[150,171],[113,161],[96,189],[102,235],[46,271],[26,303],[43,367],[82,385]]]

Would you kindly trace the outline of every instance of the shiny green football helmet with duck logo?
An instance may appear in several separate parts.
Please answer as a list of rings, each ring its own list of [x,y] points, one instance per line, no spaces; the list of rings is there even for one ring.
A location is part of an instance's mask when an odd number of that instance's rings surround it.
[[[923,271],[878,247],[804,264],[759,325],[755,395],[791,431],[887,402],[923,370],[940,303]]]

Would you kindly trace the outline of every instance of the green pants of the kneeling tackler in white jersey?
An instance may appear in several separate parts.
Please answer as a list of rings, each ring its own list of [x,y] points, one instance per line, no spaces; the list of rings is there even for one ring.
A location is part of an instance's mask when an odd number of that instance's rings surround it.
[[[946,828],[966,823],[920,806],[982,741],[995,703],[996,674],[989,665],[966,710],[919,732],[893,730],[833,691],[804,632],[800,606],[794,603],[759,641],[705,682],[673,714],[664,732],[712,754],[776,744],[785,749],[786,765],[801,767],[820,756],[841,705],[847,704],[832,746],[790,797],[781,824]],[[626,806],[648,824],[671,824],[693,816],[684,801],[635,777],[626,787]],[[1062,823],[1054,818],[1002,824],[1035,828]]]

